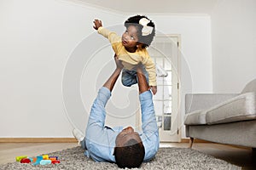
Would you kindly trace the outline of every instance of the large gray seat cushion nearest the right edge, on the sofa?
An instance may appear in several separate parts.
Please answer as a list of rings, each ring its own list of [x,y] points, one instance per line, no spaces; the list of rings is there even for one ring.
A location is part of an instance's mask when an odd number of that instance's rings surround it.
[[[207,124],[239,122],[256,119],[256,94],[240,94],[206,111]]]

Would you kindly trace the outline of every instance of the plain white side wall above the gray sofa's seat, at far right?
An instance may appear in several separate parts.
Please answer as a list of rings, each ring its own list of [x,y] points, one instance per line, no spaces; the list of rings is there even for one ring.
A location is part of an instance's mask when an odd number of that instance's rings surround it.
[[[256,77],[256,1],[222,0],[212,12],[215,93],[240,93]]]

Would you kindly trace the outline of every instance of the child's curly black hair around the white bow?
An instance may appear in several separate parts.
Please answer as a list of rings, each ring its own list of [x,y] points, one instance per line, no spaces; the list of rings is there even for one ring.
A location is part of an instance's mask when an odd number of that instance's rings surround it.
[[[148,20],[148,24],[146,26],[152,29],[148,35],[143,35],[143,25],[140,24],[140,20],[142,19]],[[125,27],[128,28],[128,26],[137,27],[138,39],[139,42],[143,43],[143,48],[147,48],[151,44],[155,35],[154,22],[152,20],[149,20],[148,17],[144,15],[135,15],[131,16],[128,20],[125,20]]]

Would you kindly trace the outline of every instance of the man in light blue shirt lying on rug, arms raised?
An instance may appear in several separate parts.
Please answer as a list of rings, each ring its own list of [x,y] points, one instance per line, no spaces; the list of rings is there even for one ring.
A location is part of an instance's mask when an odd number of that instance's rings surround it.
[[[137,67],[143,132],[137,133],[132,127],[106,127],[105,105],[123,68],[119,59],[116,57],[114,59],[116,69],[99,89],[90,110],[85,138],[78,129],[73,129],[73,135],[84,148],[84,155],[94,161],[115,162],[121,168],[140,167],[143,161],[150,161],[159,149],[159,132],[152,93],[142,68]]]

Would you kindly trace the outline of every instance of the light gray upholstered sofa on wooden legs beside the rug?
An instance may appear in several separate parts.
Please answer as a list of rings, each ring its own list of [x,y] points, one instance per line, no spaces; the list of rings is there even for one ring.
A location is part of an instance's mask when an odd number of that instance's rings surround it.
[[[186,136],[256,148],[256,79],[241,94],[186,94]]]

